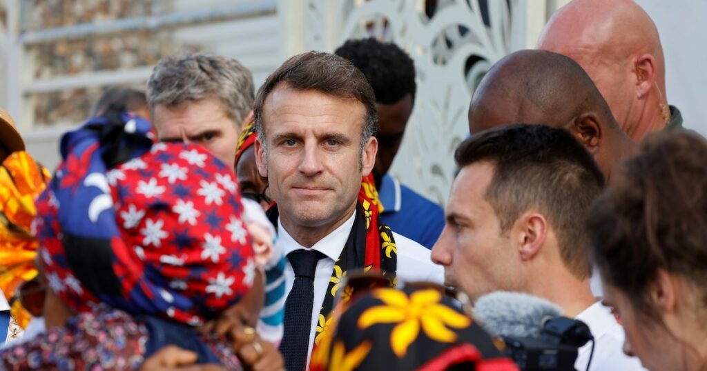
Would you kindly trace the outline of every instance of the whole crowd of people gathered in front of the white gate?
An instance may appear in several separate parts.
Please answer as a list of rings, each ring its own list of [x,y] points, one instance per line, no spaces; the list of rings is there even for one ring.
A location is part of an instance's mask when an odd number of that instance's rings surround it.
[[[707,141],[645,11],[573,0],[494,64],[444,210],[389,173],[415,78],[375,39],[257,93],[168,57],[53,171],[0,110],[0,370],[534,370],[532,316],[586,336],[544,370],[706,370]]]

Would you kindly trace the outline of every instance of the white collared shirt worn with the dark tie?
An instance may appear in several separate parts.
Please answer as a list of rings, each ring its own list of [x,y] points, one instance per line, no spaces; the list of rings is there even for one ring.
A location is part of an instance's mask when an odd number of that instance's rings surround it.
[[[320,259],[317,263],[317,271],[314,279],[314,305],[312,305],[312,327],[310,329],[309,351],[307,355],[307,367],[309,367],[309,359],[312,355],[312,344],[316,335],[317,322],[319,322],[319,313],[324,303],[324,298],[329,286],[329,278],[332,277],[334,271],[334,262],[339,259],[341,251],[346,245],[346,240],[349,239],[349,232],[354,227],[354,219],[356,213],[352,213],[339,228],[335,229],[329,235],[319,240],[310,249],[315,249],[326,257]],[[277,221],[278,240],[277,243],[285,254],[289,254],[297,249],[305,249],[285,230],[280,220]],[[443,284],[444,270],[442,266],[438,266],[432,262],[430,250],[426,249],[417,242],[410,240],[407,237],[398,235],[393,232],[395,245],[397,246],[397,269],[396,276],[399,285],[405,282],[413,281],[428,281]],[[292,290],[292,284],[295,281],[295,273],[292,270],[290,262],[287,261],[285,268],[286,278],[286,294]]]

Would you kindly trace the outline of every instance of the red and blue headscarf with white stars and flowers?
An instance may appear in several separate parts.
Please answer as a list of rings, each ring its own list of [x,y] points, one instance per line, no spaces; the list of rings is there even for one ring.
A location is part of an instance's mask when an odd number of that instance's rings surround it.
[[[77,312],[105,302],[199,325],[254,279],[238,184],[201,146],[153,144],[149,130],[114,112],[64,135],[37,200],[45,274]]]

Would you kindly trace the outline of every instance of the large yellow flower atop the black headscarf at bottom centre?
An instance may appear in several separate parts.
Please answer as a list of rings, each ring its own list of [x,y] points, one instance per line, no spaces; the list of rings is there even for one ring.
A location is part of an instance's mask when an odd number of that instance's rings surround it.
[[[438,290],[415,291],[408,298],[403,291],[380,289],[374,296],[383,305],[363,312],[358,318],[358,327],[366,329],[373,324],[397,323],[390,334],[390,346],[399,358],[407,354],[407,348],[419,336],[420,329],[434,341],[451,343],[457,340],[457,334],[447,326],[463,329],[472,324],[469,317],[443,305]]]

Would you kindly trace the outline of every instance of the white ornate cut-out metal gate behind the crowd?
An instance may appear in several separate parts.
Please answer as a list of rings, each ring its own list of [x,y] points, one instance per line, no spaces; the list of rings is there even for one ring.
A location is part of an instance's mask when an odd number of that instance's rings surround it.
[[[544,5],[541,11],[540,28]],[[349,38],[373,36],[396,42],[414,59],[416,102],[391,171],[445,204],[455,172],[454,150],[468,133],[473,90],[494,62],[527,47],[527,3],[307,0],[306,12],[305,49],[332,51]]]

